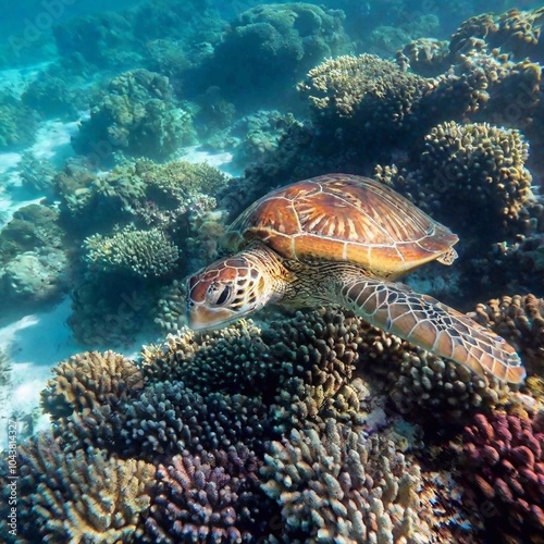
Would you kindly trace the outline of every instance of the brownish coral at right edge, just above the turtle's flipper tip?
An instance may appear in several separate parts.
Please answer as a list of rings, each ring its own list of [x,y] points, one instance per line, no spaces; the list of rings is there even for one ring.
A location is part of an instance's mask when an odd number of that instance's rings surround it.
[[[544,300],[535,295],[514,295],[480,304],[471,314],[492,326],[521,351],[529,373],[544,371]]]

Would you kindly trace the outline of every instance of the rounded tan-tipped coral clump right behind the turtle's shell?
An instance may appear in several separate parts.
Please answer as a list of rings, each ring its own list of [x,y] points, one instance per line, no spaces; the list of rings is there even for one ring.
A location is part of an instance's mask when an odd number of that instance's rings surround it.
[[[379,166],[379,177],[455,230],[478,228],[480,238],[490,233],[496,239],[496,230],[519,228],[533,199],[529,145],[519,131],[449,122],[433,127],[424,143],[418,170]]]

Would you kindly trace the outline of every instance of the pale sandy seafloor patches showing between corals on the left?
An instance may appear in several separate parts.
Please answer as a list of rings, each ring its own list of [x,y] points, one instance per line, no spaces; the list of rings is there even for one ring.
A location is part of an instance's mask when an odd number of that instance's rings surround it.
[[[18,95],[41,67],[0,71],[0,87]],[[78,122],[64,123],[59,120],[45,121],[39,125],[33,146],[17,152],[0,153],[0,228],[18,208],[40,201],[39,197],[29,195],[21,185],[17,164],[22,154],[32,151],[37,158],[48,159],[60,169],[64,160],[74,154],[70,139],[77,132],[77,124]],[[227,152],[209,153],[198,146],[191,146],[180,149],[178,158],[190,162],[208,162],[228,175],[237,174],[232,169],[232,156]],[[52,376],[52,367],[81,351],[108,349],[108,346],[78,345],[66,324],[70,313],[71,300],[67,296],[55,306],[45,307],[42,311],[11,318],[2,312],[0,301],[0,350],[5,351],[12,362],[10,383],[0,391],[0,449],[8,444],[10,418],[17,419],[24,434],[29,432],[30,421],[32,432],[49,425],[48,416],[41,415],[38,408],[40,392]],[[144,344],[156,339],[143,336],[128,349],[116,350],[134,356]]]

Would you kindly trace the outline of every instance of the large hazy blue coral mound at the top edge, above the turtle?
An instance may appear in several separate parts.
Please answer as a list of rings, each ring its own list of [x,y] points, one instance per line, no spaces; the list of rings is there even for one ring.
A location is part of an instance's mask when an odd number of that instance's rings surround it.
[[[286,89],[347,46],[342,21],[341,11],[304,2],[250,8],[231,23],[197,71],[193,92],[201,95],[212,85],[240,111],[251,111],[256,101],[259,108],[285,108]]]

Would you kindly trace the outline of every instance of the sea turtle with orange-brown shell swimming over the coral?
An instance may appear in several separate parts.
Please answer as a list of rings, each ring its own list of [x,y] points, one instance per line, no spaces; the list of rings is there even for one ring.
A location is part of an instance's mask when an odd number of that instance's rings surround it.
[[[268,302],[341,305],[372,325],[481,376],[519,383],[514,348],[459,311],[394,283],[425,262],[450,264],[458,237],[386,185],[329,174],[273,190],[231,225],[237,251],[188,279],[194,330],[217,327]]]

